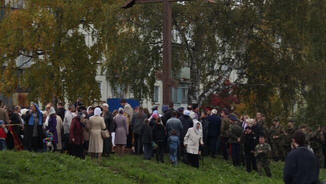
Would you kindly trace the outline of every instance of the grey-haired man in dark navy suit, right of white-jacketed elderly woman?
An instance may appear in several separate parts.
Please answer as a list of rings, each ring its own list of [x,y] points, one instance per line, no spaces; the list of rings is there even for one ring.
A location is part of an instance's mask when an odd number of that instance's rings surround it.
[[[211,156],[215,158],[216,141],[221,132],[221,117],[217,115],[217,110],[212,110],[212,115],[207,117],[208,120],[208,137],[207,144],[210,145]]]

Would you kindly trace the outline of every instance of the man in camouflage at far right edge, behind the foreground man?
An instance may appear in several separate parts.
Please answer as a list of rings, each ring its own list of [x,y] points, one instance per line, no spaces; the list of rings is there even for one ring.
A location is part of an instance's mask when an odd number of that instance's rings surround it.
[[[322,154],[322,145],[325,142],[323,133],[321,132],[320,125],[316,126],[316,130],[311,133],[310,144],[313,149],[313,153],[317,156],[319,167],[323,166],[323,154]]]

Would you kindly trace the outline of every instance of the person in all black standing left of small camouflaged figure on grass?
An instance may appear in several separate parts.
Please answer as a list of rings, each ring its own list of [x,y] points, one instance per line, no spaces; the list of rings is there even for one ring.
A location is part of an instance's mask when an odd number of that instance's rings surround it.
[[[250,126],[245,128],[243,139],[247,172],[251,172],[252,169],[257,170],[256,159],[254,156],[254,150],[257,145],[257,141],[255,134],[251,131]]]

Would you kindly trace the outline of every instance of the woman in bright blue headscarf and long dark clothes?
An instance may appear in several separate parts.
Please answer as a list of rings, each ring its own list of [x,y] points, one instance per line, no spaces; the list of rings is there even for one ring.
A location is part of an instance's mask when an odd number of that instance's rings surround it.
[[[24,149],[29,151],[41,151],[43,147],[43,116],[39,107],[33,103],[24,117]]]

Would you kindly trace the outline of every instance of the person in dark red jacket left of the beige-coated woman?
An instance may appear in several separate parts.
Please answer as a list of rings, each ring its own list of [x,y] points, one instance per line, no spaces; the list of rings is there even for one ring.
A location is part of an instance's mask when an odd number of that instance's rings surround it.
[[[76,117],[71,121],[70,125],[70,144],[71,150],[70,155],[83,158],[83,124],[80,122],[85,117],[84,113],[79,112]]]

